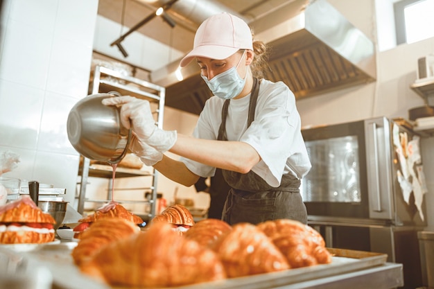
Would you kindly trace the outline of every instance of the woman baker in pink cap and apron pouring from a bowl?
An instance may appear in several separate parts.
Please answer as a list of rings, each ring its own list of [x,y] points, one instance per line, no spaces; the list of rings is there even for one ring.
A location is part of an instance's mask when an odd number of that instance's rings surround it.
[[[231,186],[222,216],[230,225],[281,218],[307,222],[300,181],[311,163],[300,115],[284,82],[254,75],[265,55],[266,45],[253,41],[248,24],[234,15],[220,13],[200,25],[180,66],[196,61],[214,96],[193,136],[157,128],[147,100],[103,100],[122,105],[123,125],[134,133],[132,151],[169,179],[192,186],[221,168]],[[181,159],[167,157],[166,151]]]

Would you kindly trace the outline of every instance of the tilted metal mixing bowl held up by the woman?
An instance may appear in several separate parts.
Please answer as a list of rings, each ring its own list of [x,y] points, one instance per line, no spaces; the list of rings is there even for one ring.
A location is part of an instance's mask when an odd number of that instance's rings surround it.
[[[116,92],[87,96],[69,112],[68,139],[81,155],[96,161],[117,164],[125,156],[131,130],[121,124],[119,107],[101,100],[119,96]]]

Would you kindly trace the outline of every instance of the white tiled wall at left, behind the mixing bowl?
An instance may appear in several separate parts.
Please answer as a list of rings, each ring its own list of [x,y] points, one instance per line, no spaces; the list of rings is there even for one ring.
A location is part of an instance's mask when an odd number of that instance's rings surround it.
[[[87,95],[98,0],[3,0],[0,150],[20,155],[8,177],[76,191],[71,107]]]

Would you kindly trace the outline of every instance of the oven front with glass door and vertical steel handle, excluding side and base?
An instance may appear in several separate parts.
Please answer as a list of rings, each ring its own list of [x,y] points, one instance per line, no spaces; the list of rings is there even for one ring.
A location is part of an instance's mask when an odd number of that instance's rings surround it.
[[[302,130],[312,168],[301,193],[310,216],[394,221],[390,121]]]

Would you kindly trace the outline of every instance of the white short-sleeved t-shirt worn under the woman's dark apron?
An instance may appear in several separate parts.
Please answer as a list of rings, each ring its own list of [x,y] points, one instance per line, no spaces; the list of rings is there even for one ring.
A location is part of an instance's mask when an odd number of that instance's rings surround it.
[[[193,137],[217,139],[225,100],[212,96],[200,113]],[[311,168],[309,155],[300,132],[300,114],[295,106],[295,96],[284,82],[261,79],[254,121],[247,128],[250,95],[230,100],[226,120],[228,141],[249,143],[261,161],[252,170],[270,186],[280,185],[281,176],[291,173],[302,178]],[[181,158],[196,175],[214,175],[213,166]]]

